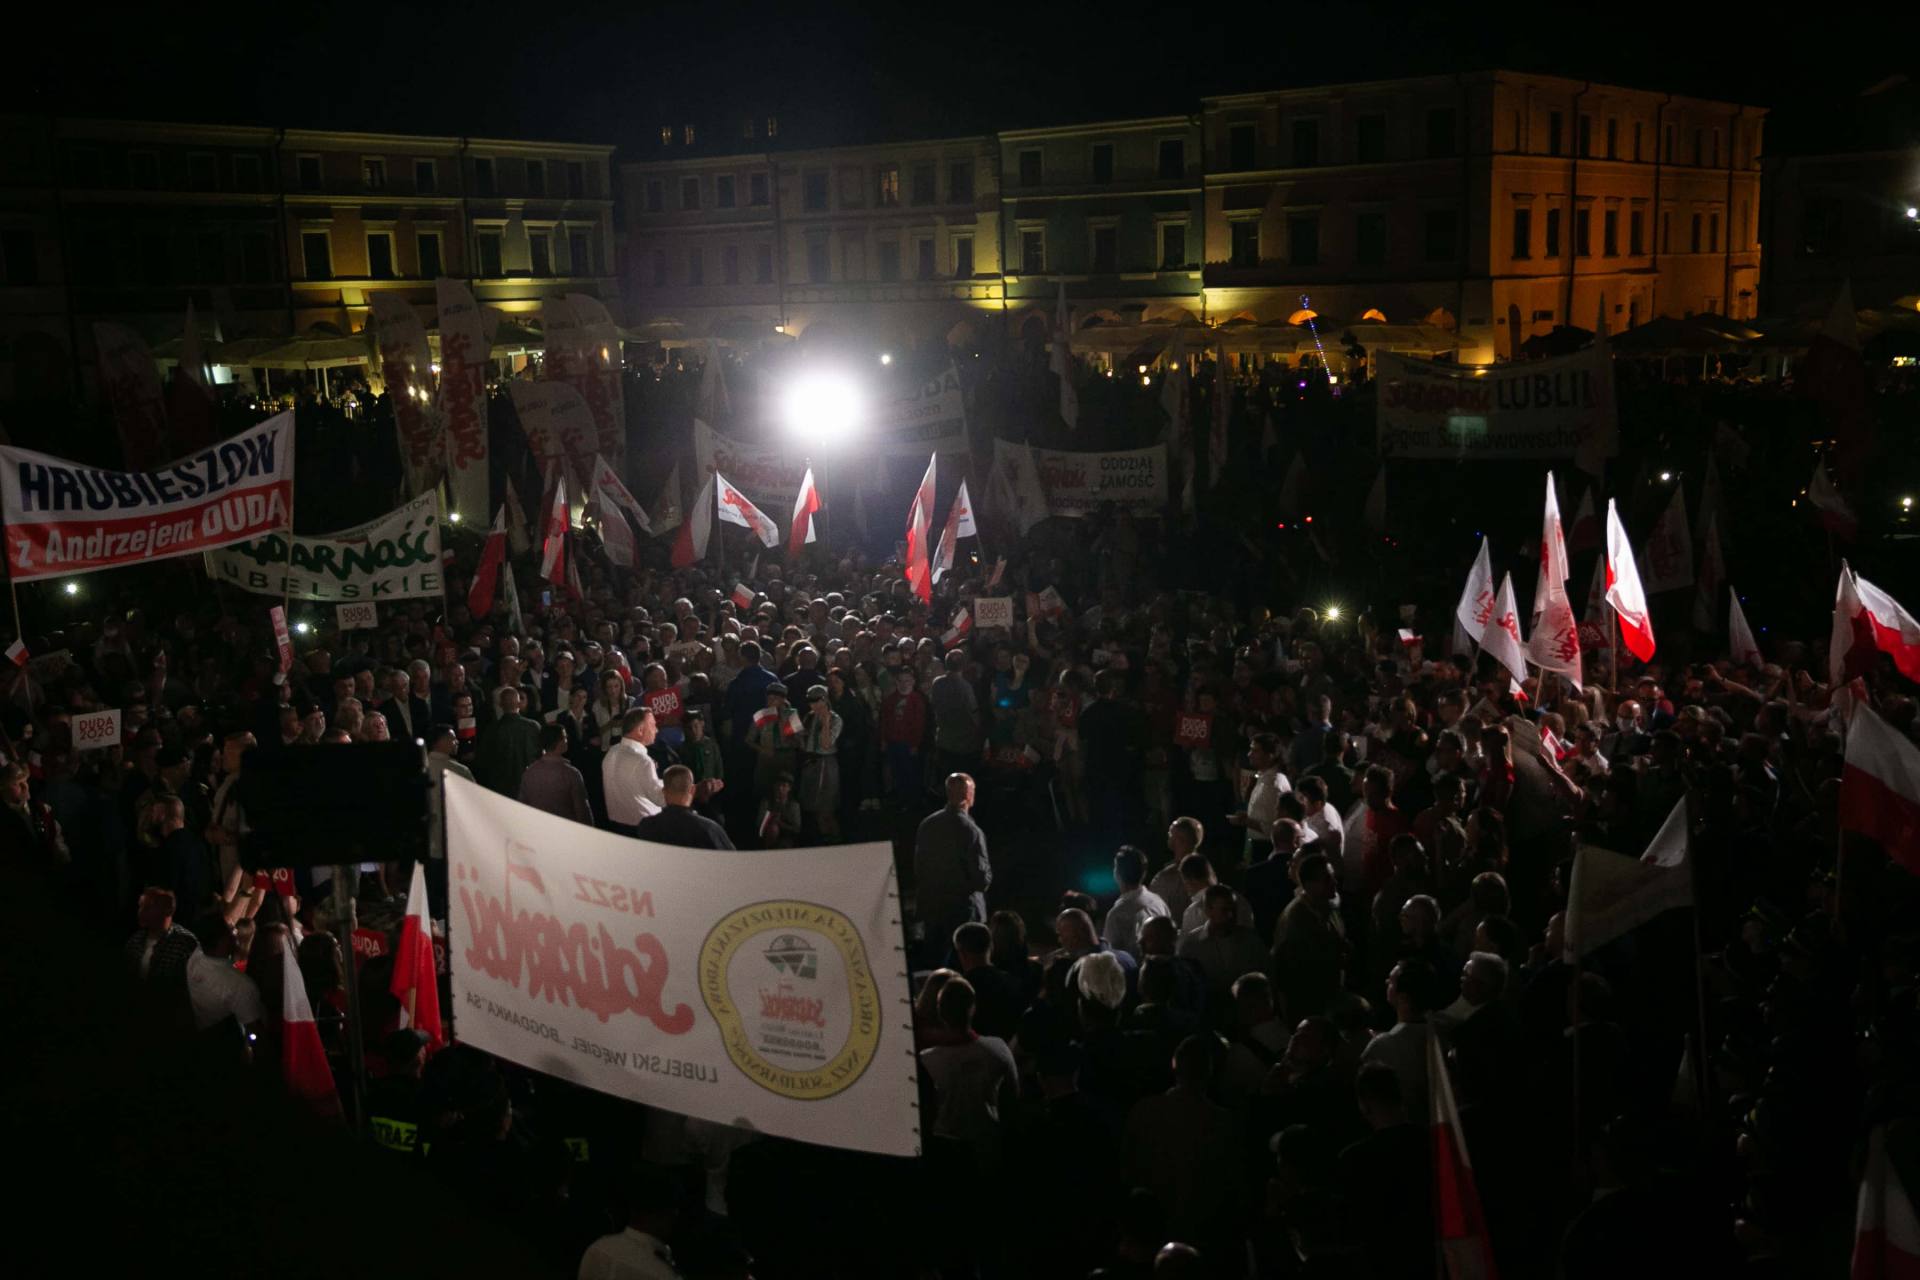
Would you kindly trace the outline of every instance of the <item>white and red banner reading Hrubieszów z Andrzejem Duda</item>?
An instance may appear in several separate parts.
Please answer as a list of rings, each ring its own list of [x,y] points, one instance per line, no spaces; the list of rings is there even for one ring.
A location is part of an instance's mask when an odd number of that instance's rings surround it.
[[[0,449],[0,510],[13,581],[259,537],[286,528],[292,499],[292,411],[152,472]]]

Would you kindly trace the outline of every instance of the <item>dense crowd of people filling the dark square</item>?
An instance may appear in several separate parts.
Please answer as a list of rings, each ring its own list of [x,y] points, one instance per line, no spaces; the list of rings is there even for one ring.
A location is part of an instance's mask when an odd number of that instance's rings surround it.
[[[1889,860],[1912,850],[1841,841],[1824,616],[1764,666],[1695,641],[1515,691],[1405,645],[1384,601],[1192,589],[1125,518],[979,557],[931,604],[845,547],[760,564],[741,604],[739,572],[664,541],[634,572],[576,543],[578,597],[476,618],[457,543],[447,603],[321,626],[284,674],[269,601],[186,562],[100,580],[8,668],[10,856],[200,1052],[278,1061],[296,963],[342,1098],[367,1046],[349,1119],[555,1274],[1430,1276],[1430,1042],[1501,1274],[1843,1265],[1868,1132],[1920,1103],[1920,904]],[[943,641],[985,593],[1014,626]],[[1866,691],[1914,733],[1889,664]],[[81,750],[98,706],[123,743]],[[891,839],[924,1157],[428,1054],[388,994],[407,869],[240,856],[250,750],[390,739],[657,842]],[[1638,856],[1676,806],[1693,908],[1574,963],[1576,846]]]

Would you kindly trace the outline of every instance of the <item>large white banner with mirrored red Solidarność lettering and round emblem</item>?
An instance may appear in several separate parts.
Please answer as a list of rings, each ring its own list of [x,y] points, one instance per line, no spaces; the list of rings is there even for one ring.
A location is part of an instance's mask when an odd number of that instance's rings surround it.
[[[722,1125],[920,1153],[887,844],[634,841],[445,779],[455,1034]]]

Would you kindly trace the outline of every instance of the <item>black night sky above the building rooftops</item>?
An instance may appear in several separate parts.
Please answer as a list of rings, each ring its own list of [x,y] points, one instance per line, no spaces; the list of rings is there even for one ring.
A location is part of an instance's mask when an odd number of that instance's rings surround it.
[[[1580,31],[1565,27],[1571,13]],[[854,142],[1156,115],[1194,109],[1202,94],[1500,65],[1768,106],[1768,150],[1780,150],[1789,138],[1843,142],[1826,136],[1834,107],[1899,69],[1895,40],[1876,42],[1851,15],[1826,23],[1826,13],[1450,0],[65,4],[38,17],[46,44],[15,46],[0,96],[13,109],[73,115],[628,146],[682,117],[749,107],[778,111],[783,142]]]

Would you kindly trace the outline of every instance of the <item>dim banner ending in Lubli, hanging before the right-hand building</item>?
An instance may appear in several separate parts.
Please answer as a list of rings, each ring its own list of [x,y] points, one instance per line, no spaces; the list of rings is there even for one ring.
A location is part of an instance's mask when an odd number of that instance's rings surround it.
[[[1546,361],[1440,365],[1375,355],[1380,455],[1559,459],[1619,453],[1613,357],[1599,344]]]

